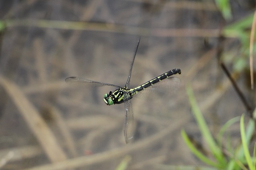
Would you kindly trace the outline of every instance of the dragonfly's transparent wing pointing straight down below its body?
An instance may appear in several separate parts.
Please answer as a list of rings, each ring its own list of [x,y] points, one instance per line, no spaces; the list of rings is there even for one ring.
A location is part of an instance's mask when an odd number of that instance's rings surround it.
[[[124,102],[124,108],[125,108],[124,137],[125,137],[125,142],[129,143],[133,141],[133,135],[134,135],[133,108],[130,100]]]

